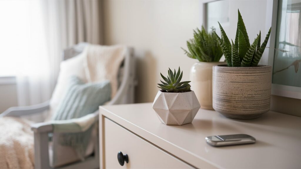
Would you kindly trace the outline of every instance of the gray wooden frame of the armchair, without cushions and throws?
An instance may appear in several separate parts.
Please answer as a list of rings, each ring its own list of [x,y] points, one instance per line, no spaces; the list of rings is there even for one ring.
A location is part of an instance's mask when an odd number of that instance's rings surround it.
[[[78,45],[66,49],[64,51],[64,60],[81,53],[86,45],[88,44],[79,43]],[[110,105],[134,103],[134,87],[137,82],[135,79],[135,58],[133,56],[132,48],[127,48],[126,50],[123,69],[123,79],[115,97],[108,103]],[[11,107],[0,114],[0,117],[30,115],[42,113],[48,109],[49,101],[46,101],[32,106]],[[98,111],[95,113],[98,113]],[[96,123],[98,123],[98,120]],[[53,126],[50,122],[42,122],[33,124],[31,128],[34,131],[35,168],[51,168],[49,164],[48,133],[53,133]],[[95,140],[94,156],[89,156],[85,161],[78,161],[58,168],[99,168],[99,136],[97,136]]]

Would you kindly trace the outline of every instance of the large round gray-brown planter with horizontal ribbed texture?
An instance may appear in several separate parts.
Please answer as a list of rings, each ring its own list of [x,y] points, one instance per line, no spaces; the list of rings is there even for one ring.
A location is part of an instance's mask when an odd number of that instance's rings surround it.
[[[257,118],[270,109],[272,67],[213,66],[213,109],[228,118]]]

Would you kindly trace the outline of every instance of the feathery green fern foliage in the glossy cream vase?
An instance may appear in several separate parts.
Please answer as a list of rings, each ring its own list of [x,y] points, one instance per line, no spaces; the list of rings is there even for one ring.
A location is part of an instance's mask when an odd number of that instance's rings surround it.
[[[194,38],[187,41],[189,52],[182,48],[185,54],[200,62],[218,62],[223,52],[219,45],[215,29],[212,28],[212,31],[207,33],[204,26],[202,26],[202,31],[197,28],[193,32]]]

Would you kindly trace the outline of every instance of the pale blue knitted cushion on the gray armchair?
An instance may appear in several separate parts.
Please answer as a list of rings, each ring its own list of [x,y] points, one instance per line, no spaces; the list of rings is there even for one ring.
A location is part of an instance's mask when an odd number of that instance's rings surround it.
[[[110,81],[85,83],[71,76],[70,85],[56,109],[52,120],[68,120],[83,117],[98,110],[111,99]]]

